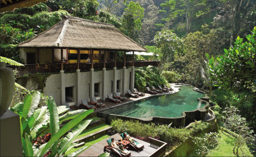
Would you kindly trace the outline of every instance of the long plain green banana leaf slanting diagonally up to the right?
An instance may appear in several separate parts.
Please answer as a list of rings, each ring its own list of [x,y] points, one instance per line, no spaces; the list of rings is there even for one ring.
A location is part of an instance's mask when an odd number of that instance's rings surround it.
[[[70,120],[66,125],[64,125],[54,136],[51,137],[50,141],[47,142],[46,147],[43,148],[41,155],[43,155],[43,152],[48,149],[55,141],[61,138],[65,133],[69,131],[69,129],[73,128],[75,125],[77,125],[81,120],[83,120],[86,116],[88,116],[90,113],[92,113],[94,110],[87,110],[84,113],[80,114],[76,118]]]

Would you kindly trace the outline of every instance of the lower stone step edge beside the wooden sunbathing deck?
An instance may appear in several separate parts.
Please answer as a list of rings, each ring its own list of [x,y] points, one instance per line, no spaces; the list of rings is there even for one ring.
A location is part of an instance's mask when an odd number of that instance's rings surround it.
[[[81,142],[89,142],[89,141],[92,141],[92,140],[94,140],[94,139],[96,139],[96,138],[99,138],[100,136],[106,135],[107,132],[108,132],[108,130],[111,129],[111,128],[112,128],[112,126],[107,127],[107,128],[104,128],[104,129],[102,129],[102,130],[100,130],[100,131],[97,131],[97,132],[95,132],[95,133],[91,133],[91,134],[86,135],[86,136],[84,136],[84,137],[82,137],[82,138],[76,139],[76,140],[74,140],[72,143],[81,143]]]

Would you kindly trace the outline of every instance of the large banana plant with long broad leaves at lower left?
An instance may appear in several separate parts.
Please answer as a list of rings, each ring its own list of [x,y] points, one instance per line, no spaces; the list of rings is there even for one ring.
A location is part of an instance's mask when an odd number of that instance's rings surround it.
[[[91,122],[91,120],[86,120],[82,123],[81,121],[94,110],[77,110],[67,112],[69,109],[65,108],[65,106],[56,107],[54,99],[50,96],[48,99],[49,112],[46,112],[47,107],[36,109],[40,101],[40,96],[41,94],[39,92],[27,95],[22,102],[16,103],[10,109],[20,116],[23,155],[44,156],[51,149],[51,154],[49,156],[67,156],[65,155],[65,152],[75,146],[72,141]],[[59,116],[64,112],[67,113]],[[72,120],[60,128],[60,124],[64,120],[69,119]],[[72,131],[62,139],[58,146],[60,138],[62,138],[62,136],[70,129],[72,129]],[[51,133],[51,139],[39,147],[33,146],[33,139],[46,133]],[[77,156],[84,149],[86,149],[86,147],[78,149],[76,152],[68,156]]]

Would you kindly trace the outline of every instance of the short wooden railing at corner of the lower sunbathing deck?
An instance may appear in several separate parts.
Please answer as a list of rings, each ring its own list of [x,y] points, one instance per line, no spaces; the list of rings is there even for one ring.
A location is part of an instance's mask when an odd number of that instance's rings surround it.
[[[166,152],[165,142],[150,138],[150,147],[156,148],[149,156],[162,156]]]

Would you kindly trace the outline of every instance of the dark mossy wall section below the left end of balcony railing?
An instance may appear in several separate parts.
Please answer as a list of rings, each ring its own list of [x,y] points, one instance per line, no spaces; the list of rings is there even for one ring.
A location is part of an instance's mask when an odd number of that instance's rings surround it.
[[[45,86],[46,79],[50,75],[38,75],[38,76],[23,76],[16,77],[15,82],[25,87],[28,90],[42,90]]]

